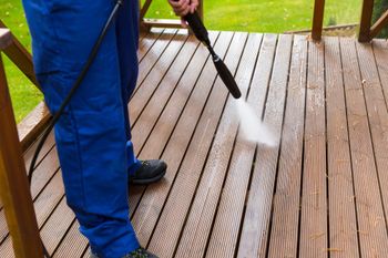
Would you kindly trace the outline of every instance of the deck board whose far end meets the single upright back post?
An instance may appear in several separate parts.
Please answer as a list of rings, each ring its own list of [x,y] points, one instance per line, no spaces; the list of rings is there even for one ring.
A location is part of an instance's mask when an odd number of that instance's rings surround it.
[[[323,43],[308,44],[304,172],[302,189],[302,257],[327,257],[327,166],[325,64]]]

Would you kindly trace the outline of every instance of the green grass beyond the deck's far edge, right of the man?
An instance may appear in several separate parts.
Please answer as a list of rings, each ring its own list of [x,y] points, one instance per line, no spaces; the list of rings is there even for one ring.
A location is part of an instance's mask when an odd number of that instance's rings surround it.
[[[355,23],[361,0],[327,0],[325,24]],[[309,29],[314,0],[204,0],[205,23],[212,30],[277,32]],[[147,18],[175,18],[166,0],[154,0]]]

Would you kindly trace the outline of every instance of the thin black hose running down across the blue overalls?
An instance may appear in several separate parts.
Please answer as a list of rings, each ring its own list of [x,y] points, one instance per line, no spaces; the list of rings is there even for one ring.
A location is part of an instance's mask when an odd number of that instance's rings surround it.
[[[100,45],[102,43],[102,41],[104,40],[105,35],[106,35],[106,32],[109,30],[109,28],[111,27],[112,24],[112,21],[114,20],[116,13],[118,13],[118,10],[119,8],[123,4],[123,0],[118,0],[111,14],[109,16],[98,40],[95,41],[92,50],[91,50],[91,53],[89,54],[89,58],[86,60],[86,63],[85,65],[83,66],[80,75],[78,76],[76,81],[74,82],[73,86],[71,87],[70,92],[68,93],[67,97],[64,99],[64,101],[62,102],[60,109],[58,110],[58,112],[53,115],[52,120],[50,121],[48,127],[45,128],[39,144],[38,144],[38,147],[33,154],[33,157],[32,157],[32,161],[31,161],[31,164],[30,164],[30,169],[29,169],[29,173],[28,173],[28,180],[29,180],[29,184],[31,185],[31,180],[32,180],[32,175],[33,175],[33,172],[34,169],[37,168],[35,167],[35,164],[37,164],[37,159],[38,159],[38,156],[39,156],[39,153],[41,152],[42,147],[43,147],[43,144],[44,142],[47,141],[51,130],[54,127],[55,123],[58,122],[58,120],[61,117],[61,115],[63,114],[63,111],[64,109],[67,107],[67,105],[69,104],[69,102],[71,101],[72,96],[74,95],[75,91],[80,87],[83,79],[85,78],[90,66],[92,65],[98,52],[99,52],[99,49],[100,49]],[[45,248],[43,241],[42,241],[42,247],[43,247],[43,254],[47,258],[50,258],[50,254],[48,251],[48,249]]]

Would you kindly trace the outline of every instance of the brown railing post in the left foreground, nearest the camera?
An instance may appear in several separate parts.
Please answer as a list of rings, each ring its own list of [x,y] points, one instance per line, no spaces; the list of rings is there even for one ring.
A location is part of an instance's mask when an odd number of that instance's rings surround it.
[[[0,29],[0,52],[11,43]],[[0,196],[17,258],[42,258],[42,245],[33,209],[17,124],[0,56]]]

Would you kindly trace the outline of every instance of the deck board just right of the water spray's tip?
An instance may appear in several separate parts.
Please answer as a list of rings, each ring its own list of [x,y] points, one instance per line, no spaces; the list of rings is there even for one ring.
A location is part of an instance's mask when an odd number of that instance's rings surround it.
[[[307,41],[294,37],[268,257],[297,257]],[[284,207],[287,207],[286,209]]]

